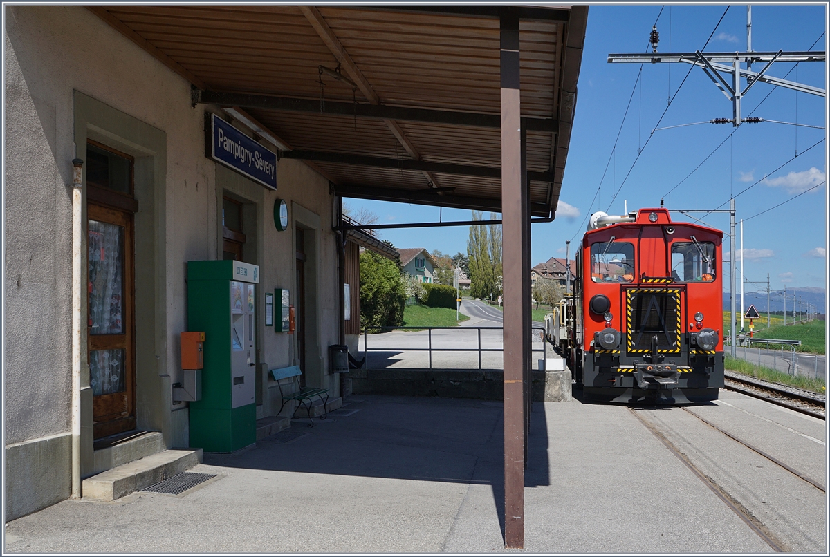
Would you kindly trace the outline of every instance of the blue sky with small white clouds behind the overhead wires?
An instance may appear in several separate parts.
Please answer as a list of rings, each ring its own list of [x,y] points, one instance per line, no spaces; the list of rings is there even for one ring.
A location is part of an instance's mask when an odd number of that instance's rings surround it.
[[[737,218],[745,219],[747,279],[766,281],[769,273],[773,289],[785,285],[788,288],[825,285],[826,186],[818,186],[759,215],[824,181],[825,130],[769,122],[744,124],[737,130],[731,124],[701,124],[658,130],[643,148],[666,110],[670,95],[671,106],[660,128],[731,118],[732,105],[699,68],[692,69],[686,78],[690,65],[643,65],[635,90],[640,65],[607,62],[608,53],[645,51],[656,20],[660,32],[658,51],[699,50],[726,8],[726,5],[590,7],[574,132],[558,216],[552,223],[533,225],[532,264],[549,257],[563,257],[565,240],[572,240],[572,246],[578,245],[585,220],[594,211],[622,214],[626,201],[628,210],[632,211],[659,206],[662,197],[670,209],[714,209],[721,205],[728,208],[731,192],[736,196]],[[706,51],[745,51],[746,16],[745,5],[729,7]],[[753,50],[806,51],[820,39],[813,50],[824,51],[826,21],[823,5],[754,6]],[[822,62],[802,63],[797,69],[794,66],[776,63],[768,73],[783,78],[792,70],[788,80],[825,87],[826,67]],[[760,67],[756,64],[753,69]],[[631,105],[617,140],[629,99],[632,99]],[[826,100],[759,83],[753,85],[743,100],[742,115],[749,114],[825,127]],[[639,160],[632,167],[641,148]],[[793,157],[794,160],[784,164]],[[418,222],[439,217],[437,207],[364,200],[348,200],[348,203],[354,209],[365,207],[374,211],[381,222]],[[469,218],[470,211],[442,210],[443,220]],[[684,220],[676,213],[672,218]],[[715,228],[729,231],[728,214],[711,214],[704,220]],[[466,252],[467,236],[466,227],[383,230],[383,237],[400,248],[425,247],[450,254]],[[740,249],[740,235],[736,245]],[[728,288],[728,264],[723,273],[724,285]],[[747,287],[748,291],[752,289]]]

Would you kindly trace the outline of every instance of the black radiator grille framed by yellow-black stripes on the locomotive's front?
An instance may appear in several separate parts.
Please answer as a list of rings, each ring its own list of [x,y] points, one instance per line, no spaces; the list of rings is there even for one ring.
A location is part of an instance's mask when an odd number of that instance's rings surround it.
[[[629,352],[651,350],[657,337],[661,352],[680,350],[680,291],[645,288],[627,291],[627,345]]]

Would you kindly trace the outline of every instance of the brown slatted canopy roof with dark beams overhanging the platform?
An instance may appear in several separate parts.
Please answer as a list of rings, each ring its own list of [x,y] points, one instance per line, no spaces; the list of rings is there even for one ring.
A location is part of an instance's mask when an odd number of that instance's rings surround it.
[[[88,9],[340,196],[500,212],[500,7]],[[519,10],[530,214],[553,217],[588,7]]]

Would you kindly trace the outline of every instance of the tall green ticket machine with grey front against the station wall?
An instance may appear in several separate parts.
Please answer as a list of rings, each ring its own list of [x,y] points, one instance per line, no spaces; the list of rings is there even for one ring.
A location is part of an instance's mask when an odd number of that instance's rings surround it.
[[[259,267],[188,261],[188,329],[203,331],[202,400],[190,403],[190,446],[232,453],[256,443]]]

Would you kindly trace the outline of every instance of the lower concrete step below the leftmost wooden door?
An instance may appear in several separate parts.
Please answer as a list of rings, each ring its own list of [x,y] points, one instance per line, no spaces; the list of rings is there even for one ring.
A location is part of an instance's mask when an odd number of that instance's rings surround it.
[[[164,482],[202,462],[202,449],[168,449],[86,478],[81,489],[85,499],[115,501],[144,487]]]

